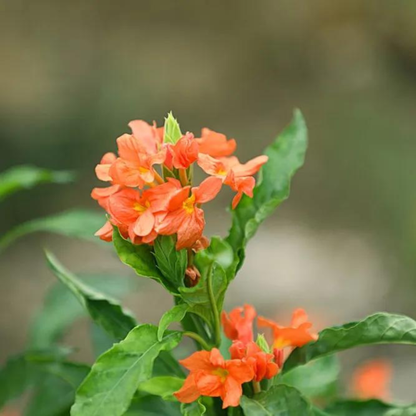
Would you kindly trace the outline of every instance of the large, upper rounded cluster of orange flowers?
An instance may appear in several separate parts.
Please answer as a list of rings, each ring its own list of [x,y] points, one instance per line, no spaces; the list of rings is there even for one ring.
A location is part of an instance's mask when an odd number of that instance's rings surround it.
[[[223,184],[236,192],[233,208],[243,194],[253,196],[253,175],[267,156],[242,164],[231,156],[234,139],[207,128],[195,138],[189,132],[182,135],[176,126],[179,133],[172,139],[166,128],[155,123],[132,121],[132,134],[117,139],[118,156],[106,153],[97,165],[98,179],[110,184],[92,191],[108,214],[96,234],[101,239],[111,241],[116,226],[134,244],[151,244],[158,235],[177,235],[178,250],[204,247],[203,204],[214,199]],[[192,187],[195,164],[209,175],[198,187]]]

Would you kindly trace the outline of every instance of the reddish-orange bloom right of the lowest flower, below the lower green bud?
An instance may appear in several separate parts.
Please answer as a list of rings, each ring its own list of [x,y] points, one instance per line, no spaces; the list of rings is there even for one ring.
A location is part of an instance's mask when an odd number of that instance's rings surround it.
[[[271,379],[279,372],[278,365],[273,362],[274,355],[262,351],[255,342],[244,344],[234,341],[230,347],[230,354],[232,359],[243,360],[251,366],[255,381]]]

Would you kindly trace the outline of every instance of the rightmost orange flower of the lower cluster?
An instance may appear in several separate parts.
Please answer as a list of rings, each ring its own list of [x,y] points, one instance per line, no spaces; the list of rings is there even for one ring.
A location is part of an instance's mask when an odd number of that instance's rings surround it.
[[[309,332],[312,324],[308,322],[308,315],[303,309],[296,309],[292,315],[289,327],[278,325],[276,322],[259,316],[259,327],[269,327],[273,330],[273,348],[302,347],[311,341],[316,341],[318,336]]]

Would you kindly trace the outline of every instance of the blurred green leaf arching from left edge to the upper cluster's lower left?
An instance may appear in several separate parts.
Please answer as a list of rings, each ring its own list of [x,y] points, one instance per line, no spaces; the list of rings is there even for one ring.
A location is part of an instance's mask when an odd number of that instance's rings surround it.
[[[94,233],[102,227],[104,216],[85,210],[66,211],[49,217],[37,218],[13,228],[0,238],[0,252],[20,237],[37,231],[56,233],[88,241],[101,242]]]

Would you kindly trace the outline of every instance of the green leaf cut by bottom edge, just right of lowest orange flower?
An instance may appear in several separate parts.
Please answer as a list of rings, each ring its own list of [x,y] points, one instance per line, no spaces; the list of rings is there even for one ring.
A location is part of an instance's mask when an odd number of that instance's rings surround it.
[[[312,416],[311,404],[293,387],[281,384],[257,394],[254,399],[241,398],[246,416]]]

